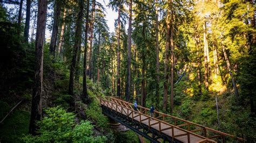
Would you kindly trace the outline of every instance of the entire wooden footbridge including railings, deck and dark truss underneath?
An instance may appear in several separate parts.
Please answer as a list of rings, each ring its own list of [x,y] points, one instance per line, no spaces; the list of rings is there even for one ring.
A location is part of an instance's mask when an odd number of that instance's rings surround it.
[[[225,138],[245,142],[231,134],[158,111],[154,111],[154,116],[150,117],[150,109],[138,106],[138,110],[134,111],[132,103],[118,97],[100,98],[100,104],[106,116],[152,142],[225,142]]]

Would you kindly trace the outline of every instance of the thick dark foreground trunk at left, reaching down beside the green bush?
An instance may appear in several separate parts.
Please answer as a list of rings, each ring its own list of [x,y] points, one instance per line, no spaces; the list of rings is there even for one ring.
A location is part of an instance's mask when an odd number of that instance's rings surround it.
[[[36,121],[42,117],[42,90],[43,90],[43,52],[46,23],[47,1],[38,1],[37,31],[35,45],[35,81],[32,93],[31,116],[29,133],[36,134]]]

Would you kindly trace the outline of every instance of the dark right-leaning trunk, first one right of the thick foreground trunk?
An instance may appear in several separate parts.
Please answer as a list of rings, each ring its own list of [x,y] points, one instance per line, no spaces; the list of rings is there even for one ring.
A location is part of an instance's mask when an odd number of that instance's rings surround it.
[[[51,33],[51,42],[50,42],[50,52],[55,58],[55,49],[56,49],[56,41],[58,35],[58,27],[59,27],[59,16],[61,10],[60,0],[55,0],[55,9],[54,9],[54,17],[53,17],[53,25],[52,25],[52,33]]]

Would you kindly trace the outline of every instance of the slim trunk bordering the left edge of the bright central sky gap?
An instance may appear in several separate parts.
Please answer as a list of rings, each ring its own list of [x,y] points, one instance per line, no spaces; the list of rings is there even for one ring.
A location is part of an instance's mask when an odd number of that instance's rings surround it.
[[[95,21],[95,5],[96,5],[96,0],[92,1],[92,19],[90,22],[90,48],[89,48],[89,62],[87,65],[87,75],[90,76],[91,78],[91,56],[92,56],[92,43],[93,43],[93,25]]]

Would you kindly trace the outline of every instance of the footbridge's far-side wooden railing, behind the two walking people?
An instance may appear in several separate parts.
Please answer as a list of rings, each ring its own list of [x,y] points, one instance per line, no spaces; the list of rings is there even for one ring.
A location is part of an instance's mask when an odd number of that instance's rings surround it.
[[[124,100],[117,99],[116,97],[107,97],[107,98],[110,98],[110,99],[112,99],[112,100],[117,100],[117,101],[119,101],[119,102],[123,102],[123,103],[129,104],[129,105],[133,105],[133,104],[130,103],[130,102],[126,102],[126,101],[124,101]],[[145,107],[140,106],[140,105],[137,106],[137,109],[138,109],[138,108],[143,109],[144,112],[150,111],[150,109],[145,108]],[[142,112],[143,112],[143,111],[142,111]],[[214,129],[212,129],[212,128],[205,127],[205,126],[203,126],[203,125],[199,125],[199,124],[197,124],[197,123],[193,123],[193,122],[191,122],[191,121],[184,120],[184,119],[181,119],[181,118],[178,118],[178,117],[174,117],[174,116],[171,116],[171,115],[167,115],[167,114],[165,114],[165,113],[162,113],[162,112],[159,112],[159,111],[156,111],[156,110],[154,111],[154,116],[156,115],[156,113],[159,114],[159,116],[156,117],[156,118],[163,118],[163,121],[165,121],[165,117],[173,118],[173,119],[174,119],[174,123],[175,123],[174,125],[175,125],[175,126],[177,126],[177,121],[178,121],[178,120],[184,121],[185,124],[188,126],[188,131],[190,131],[190,125],[194,125],[194,126],[201,127],[201,128],[203,128],[202,131],[204,131],[204,136],[205,136],[206,138],[207,138],[207,131],[210,131],[210,132],[213,132],[213,133],[221,134],[221,135],[223,135],[223,136],[227,136],[227,137],[231,137],[231,138],[234,138],[234,139],[238,139],[238,140],[240,140],[240,141],[246,141],[245,139],[242,139],[242,138],[239,138],[239,137],[235,137],[234,135],[231,135],[231,134],[228,134],[228,133],[224,133],[224,132],[220,132],[220,131],[218,131],[218,130],[214,130]],[[185,126],[185,125],[184,125],[184,124],[181,124],[180,126]],[[200,130],[194,130],[194,131],[191,131],[191,132],[198,132],[198,131],[200,131]],[[215,135],[215,136],[213,136],[213,137],[208,137],[208,138],[218,138],[218,137],[221,137],[221,136]]]

